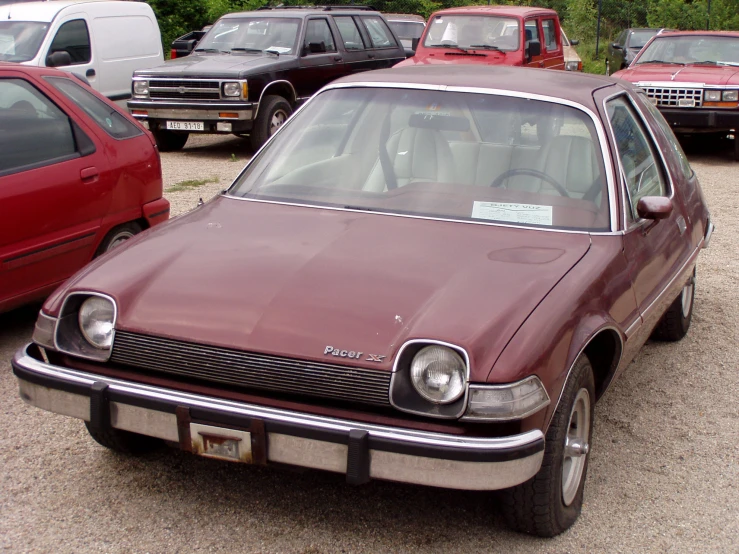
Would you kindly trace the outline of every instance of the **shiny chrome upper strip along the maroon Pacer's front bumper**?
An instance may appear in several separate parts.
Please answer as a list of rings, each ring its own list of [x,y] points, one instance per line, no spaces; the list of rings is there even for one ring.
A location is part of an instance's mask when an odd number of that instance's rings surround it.
[[[327,431],[339,431],[343,433],[348,433],[353,429],[360,429],[367,431],[371,435],[378,438],[403,441],[413,444],[464,448],[471,451],[476,451],[497,448],[521,448],[544,438],[543,433],[538,429],[526,431],[524,433],[512,435],[509,437],[470,437],[461,435],[448,435],[431,431],[419,431],[415,429],[405,429],[402,427],[388,427],[386,425],[364,423],[348,419],[345,420],[330,418],[325,416],[306,414],[302,412],[291,412],[278,408],[269,408],[266,406],[246,404],[243,402],[235,402],[232,400],[224,400],[199,394],[174,391],[150,385],[142,385],[139,383],[123,381],[121,379],[116,379],[113,377],[105,377],[102,375],[95,375],[83,371],[54,366],[32,358],[31,356],[26,354],[25,349],[22,349],[16,353],[14,363],[20,367],[23,367],[27,371],[32,371],[40,375],[45,375],[51,378],[60,379],[71,383],[92,385],[95,382],[103,382],[114,391],[136,395],[140,398],[161,400],[191,407],[218,410],[230,414],[238,414],[242,416],[274,422],[292,423],[306,428],[314,428]]]

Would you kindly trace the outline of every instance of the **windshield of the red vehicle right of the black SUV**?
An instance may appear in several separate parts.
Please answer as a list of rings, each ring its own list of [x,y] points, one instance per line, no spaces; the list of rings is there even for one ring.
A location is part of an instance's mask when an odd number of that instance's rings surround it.
[[[512,52],[518,50],[518,20],[511,17],[479,15],[438,15],[429,23],[423,45],[427,47],[483,48]]]

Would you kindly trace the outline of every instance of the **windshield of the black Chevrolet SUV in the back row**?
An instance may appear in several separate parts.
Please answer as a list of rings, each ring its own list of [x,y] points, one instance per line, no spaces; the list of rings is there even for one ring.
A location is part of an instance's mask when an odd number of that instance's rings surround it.
[[[298,42],[299,19],[240,17],[221,19],[195,49],[196,52],[262,52],[292,54]]]

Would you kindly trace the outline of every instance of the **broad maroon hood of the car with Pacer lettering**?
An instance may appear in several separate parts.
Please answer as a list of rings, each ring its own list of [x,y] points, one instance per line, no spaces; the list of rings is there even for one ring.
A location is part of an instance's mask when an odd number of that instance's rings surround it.
[[[301,359],[353,362],[324,355],[332,346],[391,370],[406,340],[442,340],[485,380],[589,247],[584,233],[220,197],[131,239],[66,290],[115,298],[118,330]]]

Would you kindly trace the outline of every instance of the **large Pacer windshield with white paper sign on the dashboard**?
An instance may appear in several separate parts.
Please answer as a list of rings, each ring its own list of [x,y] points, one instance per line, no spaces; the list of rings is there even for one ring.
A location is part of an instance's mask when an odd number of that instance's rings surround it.
[[[320,93],[229,194],[549,229],[607,230],[595,126],[583,111],[494,94]]]

